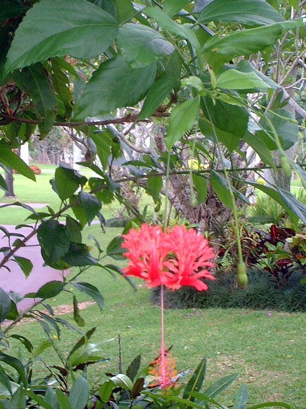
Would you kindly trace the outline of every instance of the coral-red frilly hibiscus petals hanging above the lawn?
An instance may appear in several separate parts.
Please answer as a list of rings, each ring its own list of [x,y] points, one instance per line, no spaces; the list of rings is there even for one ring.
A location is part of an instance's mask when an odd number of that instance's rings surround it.
[[[213,266],[208,261],[214,257],[213,249],[193,229],[175,226],[163,233],[160,226],[142,224],[139,231],[131,229],[122,237],[124,256],[130,260],[124,275],[143,279],[148,288],[164,285],[176,290],[189,285],[202,291],[208,287],[199,278],[215,280],[203,269]]]

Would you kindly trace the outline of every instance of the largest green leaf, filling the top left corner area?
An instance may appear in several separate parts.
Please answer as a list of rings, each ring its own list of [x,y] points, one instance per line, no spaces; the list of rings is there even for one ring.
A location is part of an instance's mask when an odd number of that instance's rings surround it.
[[[114,17],[85,0],[36,3],[15,32],[6,73],[66,54],[81,59],[97,57],[111,46],[117,30]]]

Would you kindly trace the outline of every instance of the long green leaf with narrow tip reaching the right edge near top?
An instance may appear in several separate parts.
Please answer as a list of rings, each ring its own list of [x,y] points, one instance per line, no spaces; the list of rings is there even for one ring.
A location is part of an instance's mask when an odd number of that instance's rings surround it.
[[[235,31],[224,36],[215,35],[204,44],[203,57],[217,71],[224,62],[230,61],[235,55],[248,56],[264,50],[274,44],[284,30],[300,27],[303,24],[302,19],[296,19]]]

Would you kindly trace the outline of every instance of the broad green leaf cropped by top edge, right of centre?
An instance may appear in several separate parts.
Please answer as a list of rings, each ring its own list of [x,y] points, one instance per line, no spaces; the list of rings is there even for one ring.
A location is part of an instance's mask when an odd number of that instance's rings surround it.
[[[202,9],[198,18],[198,22],[202,24],[208,24],[210,21],[267,26],[285,19],[262,0],[215,0]]]

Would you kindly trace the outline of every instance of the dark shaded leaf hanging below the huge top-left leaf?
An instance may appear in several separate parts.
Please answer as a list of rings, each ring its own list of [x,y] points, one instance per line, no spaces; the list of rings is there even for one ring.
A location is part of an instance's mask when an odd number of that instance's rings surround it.
[[[19,88],[31,96],[41,136],[47,135],[55,121],[57,101],[43,65],[37,63],[25,67],[19,75],[14,75],[14,80]]]

